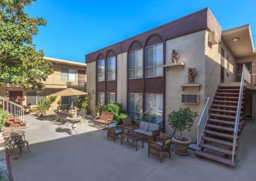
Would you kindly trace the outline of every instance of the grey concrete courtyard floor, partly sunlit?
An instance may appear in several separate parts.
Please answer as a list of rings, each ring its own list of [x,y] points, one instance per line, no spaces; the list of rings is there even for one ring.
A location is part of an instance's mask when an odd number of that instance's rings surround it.
[[[48,117],[49,118],[49,117]],[[77,124],[80,134],[70,136],[69,126],[38,120],[26,115],[29,127],[26,148],[10,157],[14,180],[255,180],[256,122],[247,122],[241,136],[236,168],[195,157],[167,154],[163,164],[157,157],[147,157],[147,142],[138,152],[132,143],[120,138],[107,140],[106,131],[95,129],[92,122]],[[57,130],[57,131],[56,131]]]

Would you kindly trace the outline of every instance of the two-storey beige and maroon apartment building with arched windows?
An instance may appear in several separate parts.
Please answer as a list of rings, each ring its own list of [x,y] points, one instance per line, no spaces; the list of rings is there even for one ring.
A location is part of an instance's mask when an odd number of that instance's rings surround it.
[[[172,50],[179,54],[177,64],[172,63]],[[200,114],[205,98],[212,101],[221,82],[240,81],[243,63],[255,84],[250,25],[224,31],[205,8],[87,54],[86,88],[92,108],[110,101],[122,103],[132,120],[148,112],[171,133],[170,112],[189,107]],[[188,68],[196,69],[193,84],[188,84]],[[246,91],[244,115],[256,119],[253,90]],[[198,119],[189,133],[194,139]]]

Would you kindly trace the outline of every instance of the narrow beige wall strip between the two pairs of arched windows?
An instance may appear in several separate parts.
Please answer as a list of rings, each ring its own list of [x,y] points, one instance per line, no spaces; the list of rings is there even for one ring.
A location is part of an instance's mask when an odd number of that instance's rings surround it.
[[[117,55],[116,103],[127,109],[127,52]]]

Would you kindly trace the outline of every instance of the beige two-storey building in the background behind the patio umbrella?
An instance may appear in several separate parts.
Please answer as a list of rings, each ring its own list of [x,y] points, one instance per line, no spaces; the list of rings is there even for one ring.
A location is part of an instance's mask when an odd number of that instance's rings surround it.
[[[22,106],[36,106],[40,99],[45,99],[68,87],[79,90],[86,89],[86,64],[51,57],[44,57],[44,59],[52,62],[54,73],[49,75],[44,82],[45,89],[43,91],[38,89],[24,90],[19,85],[9,84],[0,87],[0,96],[10,98],[11,101]],[[60,99],[62,100],[61,106],[65,107],[70,105],[72,98],[68,96],[56,98],[51,109],[57,108]]]

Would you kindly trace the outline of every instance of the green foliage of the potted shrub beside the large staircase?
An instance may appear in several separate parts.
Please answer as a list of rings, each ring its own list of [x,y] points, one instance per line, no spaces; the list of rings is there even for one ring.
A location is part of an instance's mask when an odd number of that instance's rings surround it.
[[[197,112],[191,112],[190,108],[180,108],[177,112],[170,113],[168,117],[170,126],[180,132],[180,140],[183,140],[183,131],[190,131],[198,114]]]

